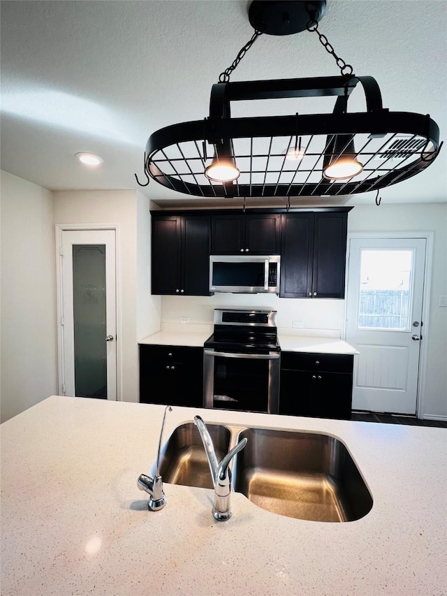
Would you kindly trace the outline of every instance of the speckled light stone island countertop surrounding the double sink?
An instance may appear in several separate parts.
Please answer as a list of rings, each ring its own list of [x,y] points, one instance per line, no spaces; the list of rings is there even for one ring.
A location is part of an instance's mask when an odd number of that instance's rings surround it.
[[[233,493],[137,488],[165,407],[51,396],[1,430],[2,596],[441,596],[447,593],[443,428],[174,407],[172,430],[207,423],[309,430],[344,442],[374,504],[348,523],[272,514]]]

